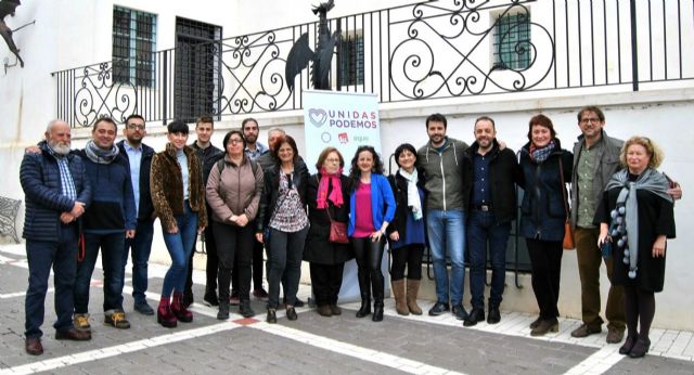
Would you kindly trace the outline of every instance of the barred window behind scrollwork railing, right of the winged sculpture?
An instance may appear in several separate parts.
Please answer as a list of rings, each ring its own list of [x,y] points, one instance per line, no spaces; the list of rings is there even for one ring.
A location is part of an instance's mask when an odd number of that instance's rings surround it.
[[[494,67],[523,70],[530,66],[530,14],[497,17],[493,29]]]

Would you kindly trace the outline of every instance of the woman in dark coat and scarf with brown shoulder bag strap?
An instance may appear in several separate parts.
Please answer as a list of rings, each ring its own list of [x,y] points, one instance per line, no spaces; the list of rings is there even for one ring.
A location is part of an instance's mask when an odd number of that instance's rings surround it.
[[[542,336],[558,331],[562,242],[568,216],[563,182],[571,179],[574,156],[562,150],[552,120],[544,115],[530,119],[528,140],[519,160],[525,190],[519,232],[530,255],[532,292],[540,308],[540,316],[530,324],[530,335]]]

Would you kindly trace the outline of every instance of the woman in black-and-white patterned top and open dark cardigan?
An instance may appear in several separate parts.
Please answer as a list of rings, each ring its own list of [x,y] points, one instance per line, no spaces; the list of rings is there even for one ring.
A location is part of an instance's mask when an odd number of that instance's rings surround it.
[[[265,171],[265,189],[256,220],[256,238],[268,249],[268,323],[277,323],[280,284],[284,280],[286,318],[298,316],[294,309],[301,277],[301,257],[308,233],[306,184],[308,169],[299,160],[296,142],[290,135],[278,139],[270,150],[275,164]],[[264,235],[268,234],[268,236]]]

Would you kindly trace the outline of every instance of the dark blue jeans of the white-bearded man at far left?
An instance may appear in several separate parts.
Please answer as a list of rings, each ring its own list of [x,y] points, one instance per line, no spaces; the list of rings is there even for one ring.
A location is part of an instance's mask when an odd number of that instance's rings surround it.
[[[56,242],[26,241],[26,257],[29,262],[29,286],[24,302],[25,336],[41,337],[48,277],[53,267],[55,286],[56,331],[73,327],[73,286],[77,271],[77,229],[75,224],[61,225]]]

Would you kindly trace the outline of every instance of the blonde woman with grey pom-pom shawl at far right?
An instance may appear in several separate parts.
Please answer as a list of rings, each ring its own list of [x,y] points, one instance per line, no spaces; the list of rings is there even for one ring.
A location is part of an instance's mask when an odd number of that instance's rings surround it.
[[[651,347],[655,293],[663,290],[665,279],[666,238],[674,238],[673,202],[667,178],[655,169],[663,153],[651,140],[629,139],[620,159],[627,168],[607,183],[595,223],[599,246],[611,243],[603,253],[615,257],[612,282],[625,288],[627,339],[619,353],[640,358]]]

